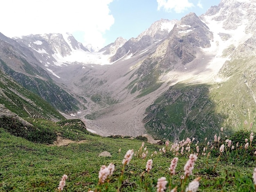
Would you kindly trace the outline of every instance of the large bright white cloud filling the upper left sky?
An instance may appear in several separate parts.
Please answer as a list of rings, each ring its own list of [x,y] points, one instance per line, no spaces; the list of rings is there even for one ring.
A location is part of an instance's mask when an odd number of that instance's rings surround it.
[[[113,0],[3,0],[0,32],[8,37],[83,31],[84,44],[102,47],[102,34],[114,24]]]

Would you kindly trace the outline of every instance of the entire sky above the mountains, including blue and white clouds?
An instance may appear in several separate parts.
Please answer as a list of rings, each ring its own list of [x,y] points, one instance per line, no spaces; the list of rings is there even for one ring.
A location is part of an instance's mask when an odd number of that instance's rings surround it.
[[[72,33],[102,48],[119,36],[136,38],[161,19],[198,16],[220,0],[2,0],[0,33],[7,37]]]

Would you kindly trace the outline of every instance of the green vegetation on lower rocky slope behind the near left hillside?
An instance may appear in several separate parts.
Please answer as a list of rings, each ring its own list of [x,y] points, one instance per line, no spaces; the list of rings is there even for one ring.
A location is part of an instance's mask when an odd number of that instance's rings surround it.
[[[79,110],[79,102],[69,93],[57,86],[44,70],[40,67],[33,67],[25,59],[19,58],[24,64],[25,71],[29,76],[21,72],[11,69],[3,60],[0,59],[0,67],[11,76],[17,83],[22,85],[25,89],[37,94],[56,109],[62,112],[72,112]],[[31,76],[31,75],[34,75]],[[44,80],[36,76],[46,77]]]

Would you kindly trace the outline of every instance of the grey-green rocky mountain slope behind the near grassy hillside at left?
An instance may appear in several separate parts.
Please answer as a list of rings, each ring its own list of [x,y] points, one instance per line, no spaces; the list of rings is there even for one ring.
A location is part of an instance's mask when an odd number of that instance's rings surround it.
[[[79,101],[54,83],[29,46],[0,33],[0,68],[17,83],[45,99],[61,112],[79,109]]]

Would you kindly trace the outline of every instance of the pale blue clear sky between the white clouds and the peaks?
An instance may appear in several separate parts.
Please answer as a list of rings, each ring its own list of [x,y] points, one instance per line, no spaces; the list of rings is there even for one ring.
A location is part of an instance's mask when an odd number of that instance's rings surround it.
[[[177,1],[177,0],[175,0]],[[202,7],[198,7],[198,0],[190,0],[194,7],[189,7],[181,13],[174,9],[166,11],[163,8],[157,10],[157,0],[114,0],[109,4],[110,14],[115,18],[114,24],[103,34],[105,45],[114,42],[119,36],[126,40],[137,37],[139,33],[150,25],[163,19],[180,20],[187,13],[194,12],[198,16],[205,13],[212,5],[218,5],[220,0],[201,0]]]

